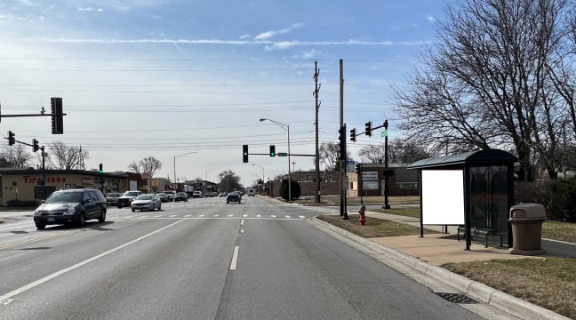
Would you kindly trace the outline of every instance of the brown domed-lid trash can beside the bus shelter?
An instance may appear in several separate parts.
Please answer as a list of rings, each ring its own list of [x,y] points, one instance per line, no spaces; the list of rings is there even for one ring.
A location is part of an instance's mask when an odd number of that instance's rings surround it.
[[[542,204],[516,204],[510,208],[508,221],[512,225],[512,249],[510,253],[540,255],[542,250],[542,222],[546,210]]]

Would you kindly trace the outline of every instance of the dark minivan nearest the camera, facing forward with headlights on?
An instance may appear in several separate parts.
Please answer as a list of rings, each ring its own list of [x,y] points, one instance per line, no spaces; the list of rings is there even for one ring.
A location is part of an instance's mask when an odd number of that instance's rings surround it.
[[[36,208],[36,228],[46,225],[76,223],[84,227],[86,220],[106,220],[106,197],[98,189],[68,189],[52,193]]]

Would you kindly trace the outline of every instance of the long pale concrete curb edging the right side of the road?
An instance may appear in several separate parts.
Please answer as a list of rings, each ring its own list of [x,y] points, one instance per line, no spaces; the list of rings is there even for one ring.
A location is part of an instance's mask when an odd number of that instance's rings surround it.
[[[468,279],[465,276],[460,276],[444,268],[440,268],[422,260],[418,260],[404,252],[397,252],[382,244],[375,244],[362,236],[357,236],[347,230],[333,226],[332,224],[312,218],[309,220],[316,228],[322,229],[324,232],[333,236],[337,234],[343,236],[349,241],[356,244],[362,244],[372,252],[378,252],[387,258],[394,260],[405,267],[412,268],[412,270],[435,279],[443,284],[449,284],[454,289],[466,293],[470,298],[479,300],[498,308],[508,314],[518,316],[523,319],[550,319],[550,320],[570,320],[570,318],[556,314],[547,308],[534,305],[530,302],[520,300],[505,292],[500,292],[486,284]],[[394,266],[390,266],[394,268]]]

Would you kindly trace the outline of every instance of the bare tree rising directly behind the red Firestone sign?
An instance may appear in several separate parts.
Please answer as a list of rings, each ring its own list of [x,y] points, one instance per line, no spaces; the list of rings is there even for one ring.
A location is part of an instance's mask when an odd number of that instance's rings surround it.
[[[52,167],[60,170],[85,170],[84,161],[90,158],[87,150],[68,146],[62,141],[52,141],[47,152]]]

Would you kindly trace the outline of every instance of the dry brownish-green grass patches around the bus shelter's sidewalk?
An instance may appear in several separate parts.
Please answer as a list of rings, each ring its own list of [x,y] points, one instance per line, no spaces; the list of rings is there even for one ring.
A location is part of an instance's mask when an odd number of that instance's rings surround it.
[[[420,218],[418,208],[392,208],[382,212]],[[371,217],[366,217],[366,225],[362,227],[358,224],[357,214],[348,216],[350,220],[341,220],[340,215],[324,215],[318,219],[364,237],[420,235],[418,227]],[[427,233],[431,232],[433,231],[427,230]],[[545,221],[542,236],[576,243],[576,224]],[[574,299],[576,259],[490,260],[450,263],[442,267],[560,315],[576,319]]]

